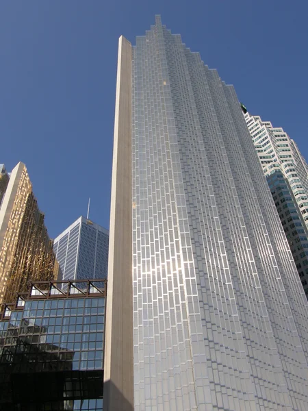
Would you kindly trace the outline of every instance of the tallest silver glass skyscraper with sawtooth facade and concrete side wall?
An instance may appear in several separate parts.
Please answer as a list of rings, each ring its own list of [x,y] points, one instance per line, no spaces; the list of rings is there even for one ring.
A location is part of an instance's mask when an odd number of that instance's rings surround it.
[[[104,406],[305,410],[307,308],[233,86],[159,16],[121,37]]]

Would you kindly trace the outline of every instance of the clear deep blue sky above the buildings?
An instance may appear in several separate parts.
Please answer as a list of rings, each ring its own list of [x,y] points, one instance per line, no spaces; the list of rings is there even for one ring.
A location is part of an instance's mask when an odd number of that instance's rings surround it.
[[[51,237],[109,226],[118,37],[155,14],[308,158],[307,0],[0,1],[0,162],[27,165]]]

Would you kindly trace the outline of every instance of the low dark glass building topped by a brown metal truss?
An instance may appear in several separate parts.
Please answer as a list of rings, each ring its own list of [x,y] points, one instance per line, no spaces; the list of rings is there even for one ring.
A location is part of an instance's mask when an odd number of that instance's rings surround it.
[[[103,410],[105,291],[103,279],[38,282],[5,305],[0,410]]]

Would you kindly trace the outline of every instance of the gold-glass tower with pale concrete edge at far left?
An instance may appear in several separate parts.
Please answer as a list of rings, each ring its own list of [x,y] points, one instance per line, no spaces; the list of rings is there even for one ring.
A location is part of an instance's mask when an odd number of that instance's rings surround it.
[[[0,208],[0,303],[27,282],[56,277],[57,263],[25,164],[13,169]]]

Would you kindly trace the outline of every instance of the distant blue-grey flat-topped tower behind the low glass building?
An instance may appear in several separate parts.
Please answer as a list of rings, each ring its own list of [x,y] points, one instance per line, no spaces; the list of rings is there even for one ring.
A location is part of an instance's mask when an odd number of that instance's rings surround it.
[[[58,279],[107,277],[108,242],[107,229],[79,217],[53,242],[60,265]]]

